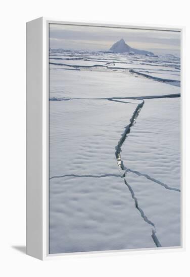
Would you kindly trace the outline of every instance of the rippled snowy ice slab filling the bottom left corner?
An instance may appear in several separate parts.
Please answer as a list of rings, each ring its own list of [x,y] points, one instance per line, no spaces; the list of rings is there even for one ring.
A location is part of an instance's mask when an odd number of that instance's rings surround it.
[[[156,247],[120,177],[50,181],[50,253]]]

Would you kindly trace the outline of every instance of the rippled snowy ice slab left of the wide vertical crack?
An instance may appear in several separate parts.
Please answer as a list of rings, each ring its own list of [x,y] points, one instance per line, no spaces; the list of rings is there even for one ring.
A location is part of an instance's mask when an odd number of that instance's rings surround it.
[[[118,174],[115,147],[141,101],[125,102],[50,101],[50,177]]]

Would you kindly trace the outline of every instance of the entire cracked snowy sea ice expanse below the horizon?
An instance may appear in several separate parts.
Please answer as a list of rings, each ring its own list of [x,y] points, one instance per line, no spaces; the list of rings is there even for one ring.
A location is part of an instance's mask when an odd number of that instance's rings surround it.
[[[179,58],[50,51],[50,253],[180,246],[179,96]]]

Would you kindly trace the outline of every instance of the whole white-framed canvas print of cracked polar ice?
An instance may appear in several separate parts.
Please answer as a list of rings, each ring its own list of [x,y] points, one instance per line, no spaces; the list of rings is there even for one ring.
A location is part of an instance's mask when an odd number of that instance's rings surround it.
[[[183,249],[183,28],[26,30],[27,254]]]

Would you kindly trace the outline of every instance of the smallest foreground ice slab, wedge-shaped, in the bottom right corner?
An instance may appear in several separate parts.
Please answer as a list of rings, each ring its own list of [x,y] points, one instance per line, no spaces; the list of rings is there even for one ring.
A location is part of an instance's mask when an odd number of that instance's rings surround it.
[[[180,246],[180,193],[132,172],[126,174],[125,180],[132,187],[138,206],[154,224],[149,224],[150,230],[156,230],[160,245]]]

